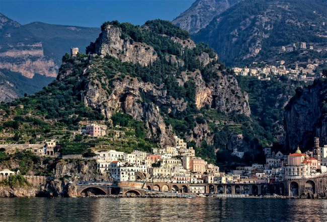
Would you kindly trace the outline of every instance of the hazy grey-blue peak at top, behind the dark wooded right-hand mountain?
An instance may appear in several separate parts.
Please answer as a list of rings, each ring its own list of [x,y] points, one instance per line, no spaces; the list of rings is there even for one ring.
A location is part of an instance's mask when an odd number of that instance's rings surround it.
[[[173,24],[188,31],[197,33],[205,28],[211,20],[235,5],[240,0],[197,0],[192,6],[174,19]]]

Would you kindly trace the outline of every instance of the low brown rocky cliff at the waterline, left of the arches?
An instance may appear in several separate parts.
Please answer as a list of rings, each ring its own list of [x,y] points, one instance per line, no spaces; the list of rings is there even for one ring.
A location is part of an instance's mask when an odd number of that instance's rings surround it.
[[[10,159],[4,167],[17,168],[19,160]],[[104,181],[109,180],[108,175],[97,173],[97,162],[95,160],[51,160],[47,164],[35,166],[29,171],[30,175],[36,174],[40,169],[47,169],[53,172],[53,176],[47,177],[44,184],[4,184],[0,183],[0,197],[34,197],[53,196],[67,197],[76,196],[76,189],[71,182],[80,181]]]

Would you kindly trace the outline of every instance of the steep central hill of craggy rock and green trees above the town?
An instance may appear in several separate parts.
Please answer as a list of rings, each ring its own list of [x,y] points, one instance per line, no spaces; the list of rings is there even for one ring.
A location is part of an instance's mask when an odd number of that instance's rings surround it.
[[[2,105],[7,133],[28,128],[26,121],[33,123],[33,116],[45,117],[46,123],[37,121],[35,129],[23,132],[26,138],[98,121],[134,127],[136,138],[159,146],[173,145],[177,134],[214,162],[215,151],[225,150],[231,135],[242,132],[242,123],[233,119],[250,120],[248,95],[222,70],[217,54],[195,45],[186,31],[160,20],[141,27],[108,22],[101,30],[87,47],[88,55],[63,57],[57,80],[33,96]],[[254,152],[251,146],[244,149]]]

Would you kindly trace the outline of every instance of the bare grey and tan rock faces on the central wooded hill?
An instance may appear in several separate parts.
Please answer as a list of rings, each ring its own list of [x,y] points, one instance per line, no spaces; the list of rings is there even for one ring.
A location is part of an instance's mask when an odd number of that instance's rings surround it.
[[[141,27],[140,29],[142,29]],[[146,29],[145,27],[144,29]],[[151,62],[160,59],[152,46],[143,42],[136,42],[131,39],[128,34],[114,23],[108,23],[102,28],[102,33],[96,40],[94,52],[100,56],[110,55],[123,62],[138,63],[147,66]],[[175,36],[161,34],[163,38],[168,38],[174,43],[180,45],[182,53],[186,48],[194,49],[195,43],[190,39],[181,39]],[[135,47],[137,45],[137,47]],[[145,50],[147,48],[147,50]],[[144,51],[144,50],[145,51]],[[91,52],[91,51],[90,51]],[[92,53],[92,52],[91,52]],[[156,85],[151,82],[142,81],[140,78],[124,78],[122,80],[112,80],[111,90],[108,92],[104,85],[108,84],[106,77],[97,78],[98,73],[92,70],[99,70],[101,62],[97,60],[93,64],[92,59],[98,59],[96,55],[91,56],[87,69],[84,70],[83,79],[89,79],[83,92],[82,98],[86,106],[99,110],[108,119],[119,111],[123,111],[133,116],[134,119],[143,121],[149,129],[147,137],[156,141],[160,146],[173,145],[173,132],[165,124],[164,117],[160,114],[160,109],[165,108],[169,113],[181,113],[186,111],[189,102],[184,98],[173,98],[167,92],[165,84]],[[104,58],[105,59],[105,58]],[[181,56],[168,54],[165,56],[166,61],[183,67],[185,61]],[[218,59],[218,55],[214,52],[209,55],[207,52],[200,53],[196,59],[203,65],[209,65]],[[58,80],[69,77],[69,73],[74,72],[74,67],[65,65],[68,68],[59,71]],[[98,68],[99,67],[99,68]],[[232,76],[222,75],[218,71],[219,65],[212,67],[216,72],[217,78],[213,78],[209,82],[205,82],[201,74],[201,70],[197,69],[193,72],[182,72],[182,78],[177,81],[181,87],[186,82],[195,82],[195,104],[198,109],[209,106],[225,113],[226,115],[237,113],[250,116],[250,108],[248,104],[248,96],[243,94],[237,84],[236,79]],[[65,73],[66,72],[66,73]],[[118,73],[119,75],[119,73]],[[176,75],[171,73],[170,75]],[[195,131],[201,132],[197,138],[193,138],[194,132],[189,132],[188,139],[196,139],[197,144],[202,140],[212,142],[212,136],[207,136],[208,126],[197,126]]]

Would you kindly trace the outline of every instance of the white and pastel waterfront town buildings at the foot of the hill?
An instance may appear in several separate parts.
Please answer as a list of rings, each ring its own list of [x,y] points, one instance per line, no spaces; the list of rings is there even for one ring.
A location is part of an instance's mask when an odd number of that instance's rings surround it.
[[[106,135],[106,126],[90,124],[79,130],[78,133],[90,137],[101,138]],[[118,138],[119,132],[113,135]],[[7,152],[17,149],[29,150],[39,157],[52,157],[62,159],[93,159],[97,162],[97,171],[106,175],[111,182],[144,182],[187,185],[188,190],[180,192],[192,194],[225,193],[225,194],[257,194],[258,191],[249,189],[232,190],[218,187],[217,190],[206,188],[208,184],[274,184],[285,180],[310,179],[327,173],[327,145],[319,146],[319,138],[315,138],[314,147],[306,152],[301,152],[299,147],[293,154],[275,153],[271,147],[264,148],[266,164],[252,164],[239,166],[230,172],[221,172],[219,167],[196,157],[193,147],[174,136],[175,146],[153,147],[150,153],[134,150],[124,153],[108,149],[95,149],[93,157],[81,155],[61,155],[58,153],[60,146],[56,140],[46,140],[42,144],[1,144],[0,148]],[[25,146],[24,146],[25,145]],[[40,147],[40,145],[42,145]],[[37,147],[38,146],[38,147]],[[231,155],[242,159],[244,153],[234,149]],[[8,169],[0,172],[0,176],[7,177],[19,174]],[[153,191],[179,192],[168,186],[153,186]],[[269,194],[266,190],[265,194]]]

